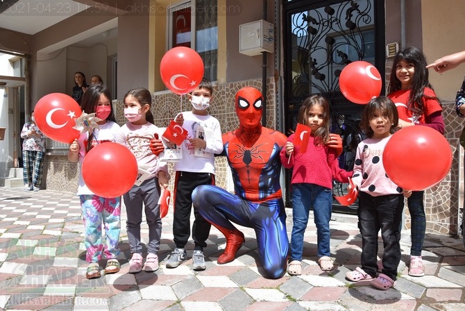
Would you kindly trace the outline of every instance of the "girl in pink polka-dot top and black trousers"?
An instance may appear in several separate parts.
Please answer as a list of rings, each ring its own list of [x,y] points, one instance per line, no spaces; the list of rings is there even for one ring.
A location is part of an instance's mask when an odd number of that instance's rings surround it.
[[[352,281],[370,280],[378,289],[389,289],[396,281],[400,262],[400,220],[404,206],[403,190],[384,171],[382,152],[398,126],[396,106],[385,96],[372,99],[365,107],[362,130],[366,140],[357,146],[353,183],[360,189],[357,209],[362,234],[362,268],[346,274]],[[411,192],[405,191],[405,196]],[[384,252],[382,273],[375,278],[378,264],[378,232],[381,230]]]

